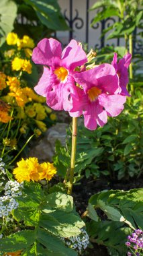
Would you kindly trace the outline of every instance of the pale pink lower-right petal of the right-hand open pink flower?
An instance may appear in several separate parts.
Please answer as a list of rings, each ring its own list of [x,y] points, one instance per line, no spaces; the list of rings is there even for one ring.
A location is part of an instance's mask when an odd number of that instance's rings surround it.
[[[103,106],[107,112],[107,115],[116,117],[124,109],[124,103],[126,102],[126,96],[120,94],[99,95],[99,104]]]

